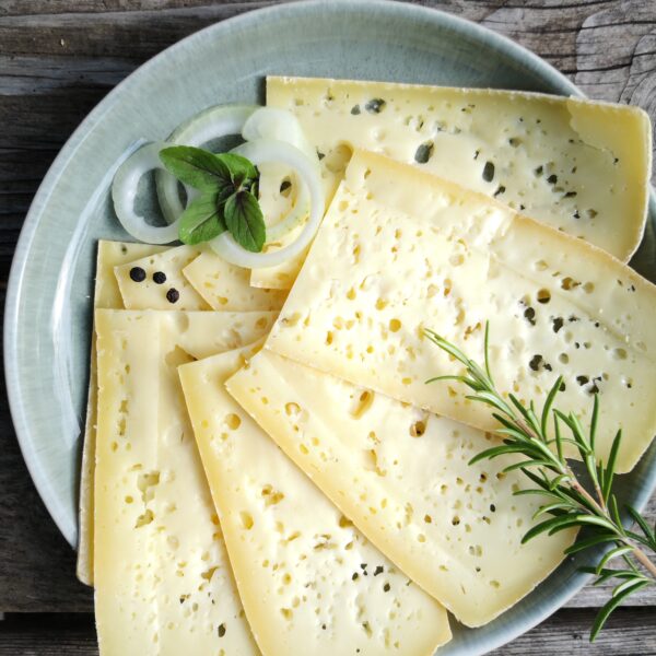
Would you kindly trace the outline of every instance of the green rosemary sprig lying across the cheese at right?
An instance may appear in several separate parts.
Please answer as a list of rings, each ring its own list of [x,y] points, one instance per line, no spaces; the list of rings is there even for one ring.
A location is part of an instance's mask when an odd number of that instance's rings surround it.
[[[541,411],[538,411],[532,401],[527,407],[513,394],[503,396],[496,389],[490,371],[489,327],[489,324],[485,325],[483,366],[469,359],[455,344],[436,332],[426,330],[426,337],[465,365],[466,370],[464,375],[437,376],[426,383],[457,380],[471,390],[466,398],[492,408],[492,417],[500,423],[496,433],[502,437],[502,444],[478,454],[470,460],[470,465],[501,455],[515,454],[519,459],[506,467],[504,471],[519,469],[535,484],[532,488],[518,490],[515,494],[539,494],[548,499],[534,516],[534,520],[542,518],[541,522],[526,532],[522,539],[523,543],[543,532],[553,535],[577,527],[587,528],[588,532],[585,538],[566,549],[566,554],[577,553],[599,544],[608,548],[597,566],[582,569],[596,576],[594,585],[610,579],[617,581],[611,598],[600,609],[593,624],[590,642],[594,642],[611,612],[629,595],[646,586],[656,585],[656,564],[646,553],[649,551],[656,554],[656,526],[649,527],[644,517],[628,504],[625,511],[634,522],[635,530],[630,530],[622,523],[618,500],[612,490],[622,431],[617,432],[604,465],[595,454],[595,437],[599,420],[598,395],[594,397],[593,414],[587,432],[575,414],[565,414],[554,407],[563,383],[562,376],[559,376],[549,390]],[[565,444],[574,445],[578,450],[590,479],[591,491],[581,483],[567,464],[564,456]],[[608,567],[607,565],[614,560],[621,560],[623,566]]]

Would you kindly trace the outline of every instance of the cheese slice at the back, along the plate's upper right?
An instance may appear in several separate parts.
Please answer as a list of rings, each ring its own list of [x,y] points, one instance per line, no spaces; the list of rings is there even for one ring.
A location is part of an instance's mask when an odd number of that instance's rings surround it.
[[[341,179],[349,151],[360,148],[495,197],[622,260],[641,241],[652,139],[649,119],[637,107],[512,91],[276,77],[267,79],[267,105],[298,118],[324,156],[328,190]],[[267,272],[277,280],[274,270],[255,272],[258,284],[267,284]]]

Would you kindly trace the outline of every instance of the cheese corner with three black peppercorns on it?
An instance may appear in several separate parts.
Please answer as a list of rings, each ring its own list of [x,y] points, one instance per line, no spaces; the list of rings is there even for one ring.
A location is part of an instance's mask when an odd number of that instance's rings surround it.
[[[210,309],[183,274],[183,269],[200,253],[196,246],[177,246],[116,267],[116,279],[126,308]],[[143,279],[136,273],[143,274]]]

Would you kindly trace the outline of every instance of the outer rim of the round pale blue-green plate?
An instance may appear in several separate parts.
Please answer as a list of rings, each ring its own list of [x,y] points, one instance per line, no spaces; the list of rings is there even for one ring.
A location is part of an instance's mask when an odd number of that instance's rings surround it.
[[[251,25],[261,21],[267,21],[270,16],[274,15],[284,16],[286,14],[294,17],[295,15],[303,15],[307,11],[313,11],[313,8],[321,8],[329,13],[339,14],[340,12],[358,12],[363,8],[372,7],[379,9],[382,12],[386,12],[386,19],[403,15],[419,17],[422,23],[427,23],[431,27],[436,30],[447,28],[452,30],[456,35],[467,36],[477,42],[484,42],[488,48],[508,60],[519,63],[526,68],[527,72],[537,74],[540,77],[541,81],[553,85],[559,90],[559,95],[586,97],[586,95],[555,67],[509,37],[499,34],[491,28],[468,19],[445,12],[438,8],[417,5],[398,0],[291,0],[269,7],[248,10],[235,16],[212,23],[211,25],[177,40],[144,61],[114,86],[73,130],[40,181],[27,213],[25,214],[23,225],[21,226],[16,247],[12,257],[4,303],[4,382],[16,441],[32,481],[34,482],[44,505],[65,539],[73,547],[73,549],[77,549],[77,508],[74,512],[74,520],[71,523],[70,518],[66,516],[66,508],[61,501],[57,499],[57,493],[51,488],[50,480],[45,476],[42,469],[38,448],[36,447],[33,437],[34,431],[30,425],[30,412],[27,405],[24,402],[23,393],[20,386],[21,375],[19,374],[19,351],[16,349],[19,311],[22,301],[21,292],[23,276],[28,265],[27,256],[38,229],[40,216],[47,208],[50,194],[59,184],[62,172],[66,169],[67,164],[71,159],[75,156],[78,147],[83,142],[86,133],[102,121],[104,114],[117,102],[120,102],[120,98],[126,91],[139,85],[141,79],[148,77],[152,67],[157,66],[164,58],[175,56],[177,49],[186,49],[190,44],[206,38],[209,34],[211,34],[213,38],[221,38],[223,33],[231,31],[235,26],[248,28]],[[649,191],[649,196],[651,204],[654,207],[656,195],[654,194],[653,188]],[[80,438],[78,438],[70,448],[71,450],[74,449],[77,452],[80,448]],[[652,448],[649,453],[652,450],[654,449]],[[77,459],[79,460],[79,457]],[[656,475],[653,476],[652,479],[652,490],[647,490],[647,484],[643,485],[639,494],[639,503],[635,504],[639,509],[646,504],[654,491],[653,488],[656,484]],[[528,622],[522,623],[522,628],[519,629],[506,625],[501,631],[495,632],[487,639],[487,648],[494,649],[507,644],[518,635],[522,635],[544,621],[550,614],[555,612],[555,610],[571,599],[590,578],[591,576],[589,574],[575,573],[567,583],[566,588],[557,590],[551,597],[553,602],[549,605],[550,608],[542,609],[541,612],[531,617]],[[461,656],[471,656],[471,654],[473,654],[472,649],[467,645],[462,645],[458,651],[450,653],[459,654]]]

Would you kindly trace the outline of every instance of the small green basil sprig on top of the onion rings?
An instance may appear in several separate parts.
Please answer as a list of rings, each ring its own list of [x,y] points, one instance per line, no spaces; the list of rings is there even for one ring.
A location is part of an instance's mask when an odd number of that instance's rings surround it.
[[[180,183],[200,191],[180,218],[180,242],[209,242],[229,231],[246,250],[261,251],[267,235],[257,200],[259,172],[246,157],[175,145],[160,159]]]

